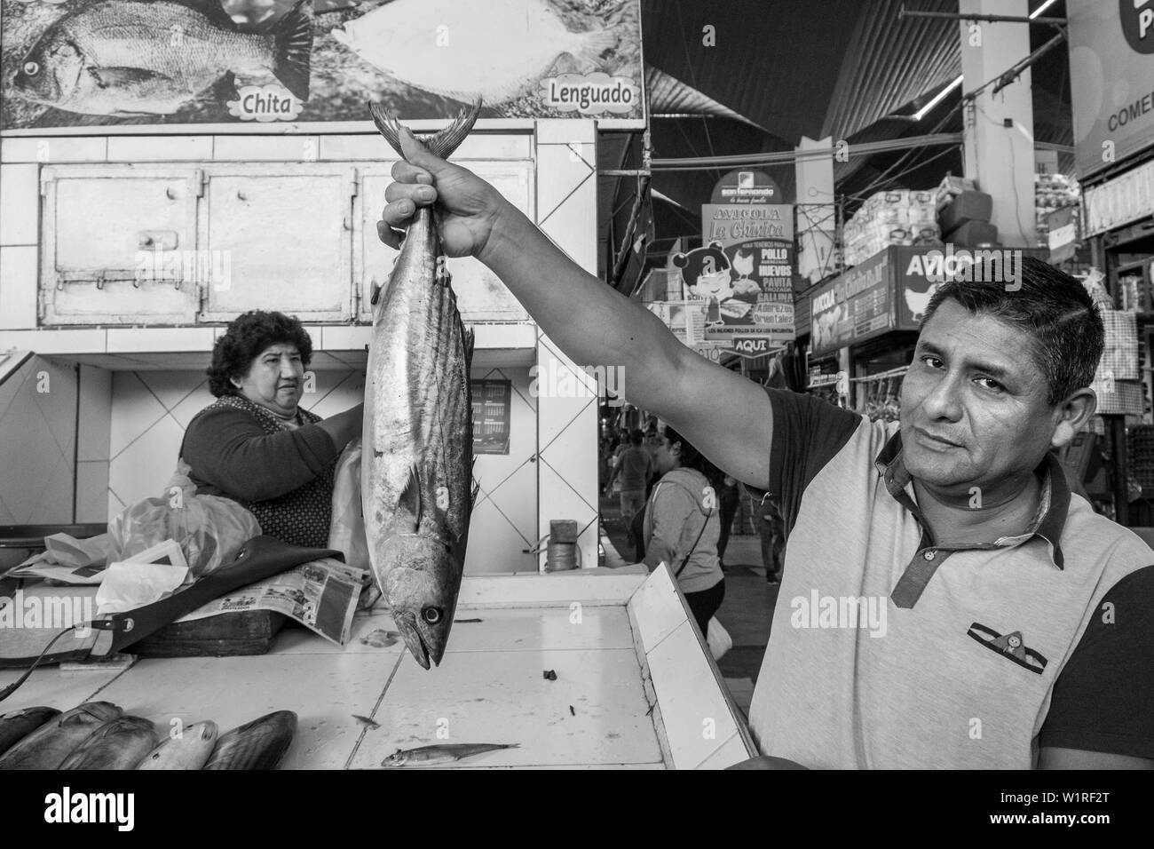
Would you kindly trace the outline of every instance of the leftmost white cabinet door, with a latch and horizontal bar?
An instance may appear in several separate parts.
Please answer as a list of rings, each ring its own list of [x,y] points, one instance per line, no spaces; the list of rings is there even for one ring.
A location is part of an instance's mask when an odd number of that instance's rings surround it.
[[[195,320],[194,166],[52,165],[40,180],[43,325]]]

